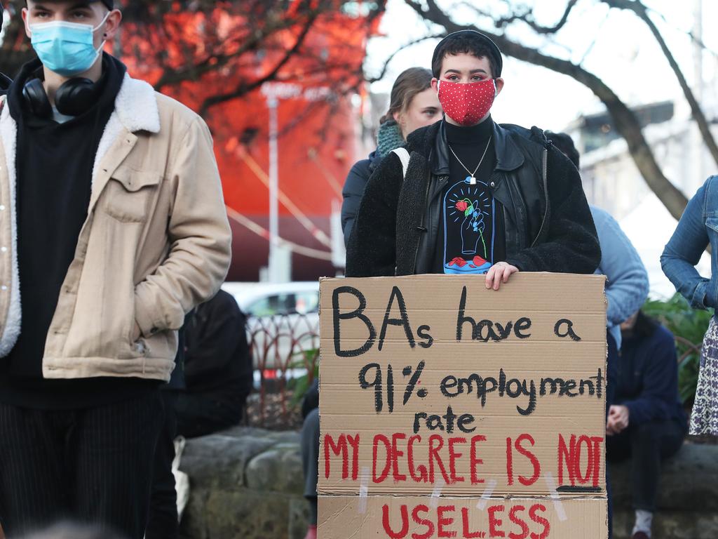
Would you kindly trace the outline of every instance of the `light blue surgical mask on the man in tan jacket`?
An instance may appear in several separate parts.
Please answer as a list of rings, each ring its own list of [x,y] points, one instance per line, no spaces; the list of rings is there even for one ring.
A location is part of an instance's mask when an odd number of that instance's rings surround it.
[[[65,21],[31,24],[29,29],[32,32],[32,47],[42,65],[63,77],[85,73],[102,52],[105,42],[95,49],[93,36],[95,31],[105,24],[109,15],[108,13],[96,27]]]

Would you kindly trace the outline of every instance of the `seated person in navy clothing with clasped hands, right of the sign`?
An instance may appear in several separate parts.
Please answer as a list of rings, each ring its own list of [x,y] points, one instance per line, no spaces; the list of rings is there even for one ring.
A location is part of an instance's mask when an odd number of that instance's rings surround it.
[[[688,424],[678,396],[673,334],[640,310],[621,331],[615,404],[606,425],[607,459],[632,459],[633,539],[648,539],[661,460],[679,451]]]

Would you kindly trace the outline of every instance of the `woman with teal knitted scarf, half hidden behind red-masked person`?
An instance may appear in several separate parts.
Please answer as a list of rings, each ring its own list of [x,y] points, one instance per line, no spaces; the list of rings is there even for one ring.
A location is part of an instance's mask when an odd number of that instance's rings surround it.
[[[419,127],[442,119],[442,106],[432,90],[432,72],[426,68],[409,68],[394,81],[389,110],[379,120],[376,150],[368,159],[357,161],[349,171],[342,189],[342,231],[344,244],[354,225],[364,188],[376,166],[391,150],[404,146],[406,137]]]

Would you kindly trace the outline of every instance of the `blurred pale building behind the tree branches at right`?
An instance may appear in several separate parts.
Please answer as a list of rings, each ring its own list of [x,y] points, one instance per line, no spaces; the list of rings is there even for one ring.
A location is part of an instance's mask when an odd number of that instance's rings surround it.
[[[718,109],[704,101],[703,108],[718,138]],[[686,197],[696,192],[707,176],[716,171],[715,162],[701,139],[687,105],[648,103],[634,113],[643,126],[658,165]],[[651,295],[673,295],[673,285],[663,275],[660,257],[676,229],[676,219],[648,188],[628,152],[625,139],[616,133],[607,113],[579,116],[567,132],[581,152],[581,178],[589,203],[610,212],[633,241],[651,280]],[[710,259],[704,254],[699,265],[710,275]]]

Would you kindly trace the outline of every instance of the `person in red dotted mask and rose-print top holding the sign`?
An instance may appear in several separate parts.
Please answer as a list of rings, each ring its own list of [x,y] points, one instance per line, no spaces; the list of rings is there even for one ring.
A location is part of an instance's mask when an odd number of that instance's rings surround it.
[[[409,156],[395,150],[371,176],[348,276],[485,274],[498,290],[518,271],[596,269],[600,247],[576,168],[540,129],[490,115],[502,66],[480,32],[439,42],[432,88],[444,120],[410,134]]]

